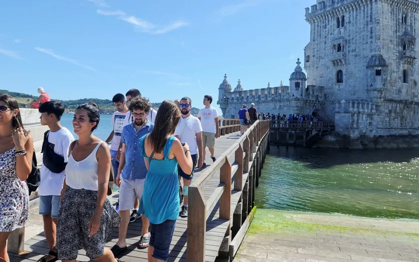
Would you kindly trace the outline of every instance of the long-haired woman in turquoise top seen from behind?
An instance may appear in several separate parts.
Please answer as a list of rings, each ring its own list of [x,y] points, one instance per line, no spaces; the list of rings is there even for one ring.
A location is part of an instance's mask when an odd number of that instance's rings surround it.
[[[186,174],[192,173],[193,162],[188,144],[174,137],[181,119],[179,107],[163,101],[157,111],[154,129],[139,141],[148,168],[140,214],[150,220],[149,262],[167,262],[170,243],[179,217],[178,163]]]

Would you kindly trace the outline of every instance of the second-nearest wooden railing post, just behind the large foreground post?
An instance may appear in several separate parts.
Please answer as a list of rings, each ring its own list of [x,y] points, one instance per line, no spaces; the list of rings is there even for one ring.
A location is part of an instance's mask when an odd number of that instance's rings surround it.
[[[225,157],[225,163],[219,170],[219,183],[224,184],[224,192],[219,198],[219,218],[230,220],[231,209],[231,165],[228,157]],[[188,218],[189,221],[189,218]]]

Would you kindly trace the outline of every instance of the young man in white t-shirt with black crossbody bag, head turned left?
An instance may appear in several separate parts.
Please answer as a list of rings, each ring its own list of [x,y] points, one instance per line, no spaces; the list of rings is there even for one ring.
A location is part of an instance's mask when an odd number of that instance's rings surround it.
[[[39,106],[41,125],[47,125],[49,131],[44,134],[42,144],[41,182],[38,187],[39,215],[42,215],[45,238],[49,253],[43,259],[52,261],[57,258],[55,250],[56,224],[60,207],[60,196],[65,178],[65,166],[68,162],[68,149],[74,141],[71,132],[61,126],[60,119],[64,105],[58,101],[48,101]]]

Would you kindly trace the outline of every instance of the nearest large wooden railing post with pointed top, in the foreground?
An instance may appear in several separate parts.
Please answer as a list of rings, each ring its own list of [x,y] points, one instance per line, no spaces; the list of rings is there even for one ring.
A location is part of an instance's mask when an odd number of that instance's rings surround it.
[[[201,188],[188,188],[188,252],[187,262],[205,262],[205,233],[207,232],[207,207]]]

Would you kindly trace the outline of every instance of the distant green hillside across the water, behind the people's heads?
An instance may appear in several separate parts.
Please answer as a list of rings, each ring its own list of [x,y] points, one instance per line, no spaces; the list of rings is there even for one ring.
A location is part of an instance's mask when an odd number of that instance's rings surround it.
[[[17,92],[10,92],[7,90],[1,90],[0,94],[8,94],[13,96],[17,102],[19,103],[19,107],[30,107],[30,102],[36,101],[38,99],[37,96],[28,95],[24,93],[17,93]],[[54,100],[54,99],[53,99]],[[58,99],[55,99],[58,100]],[[88,103],[88,102],[95,102],[99,106],[99,110],[101,114],[112,114],[115,112],[115,106],[112,103],[112,100],[109,99],[98,99],[98,98],[83,98],[77,100],[58,100],[62,101],[65,106],[65,112],[72,112],[74,111],[77,106]],[[157,109],[160,106],[160,103],[151,103],[153,108]],[[193,115],[197,115],[199,112],[198,108],[193,107],[191,109],[191,113]]]

